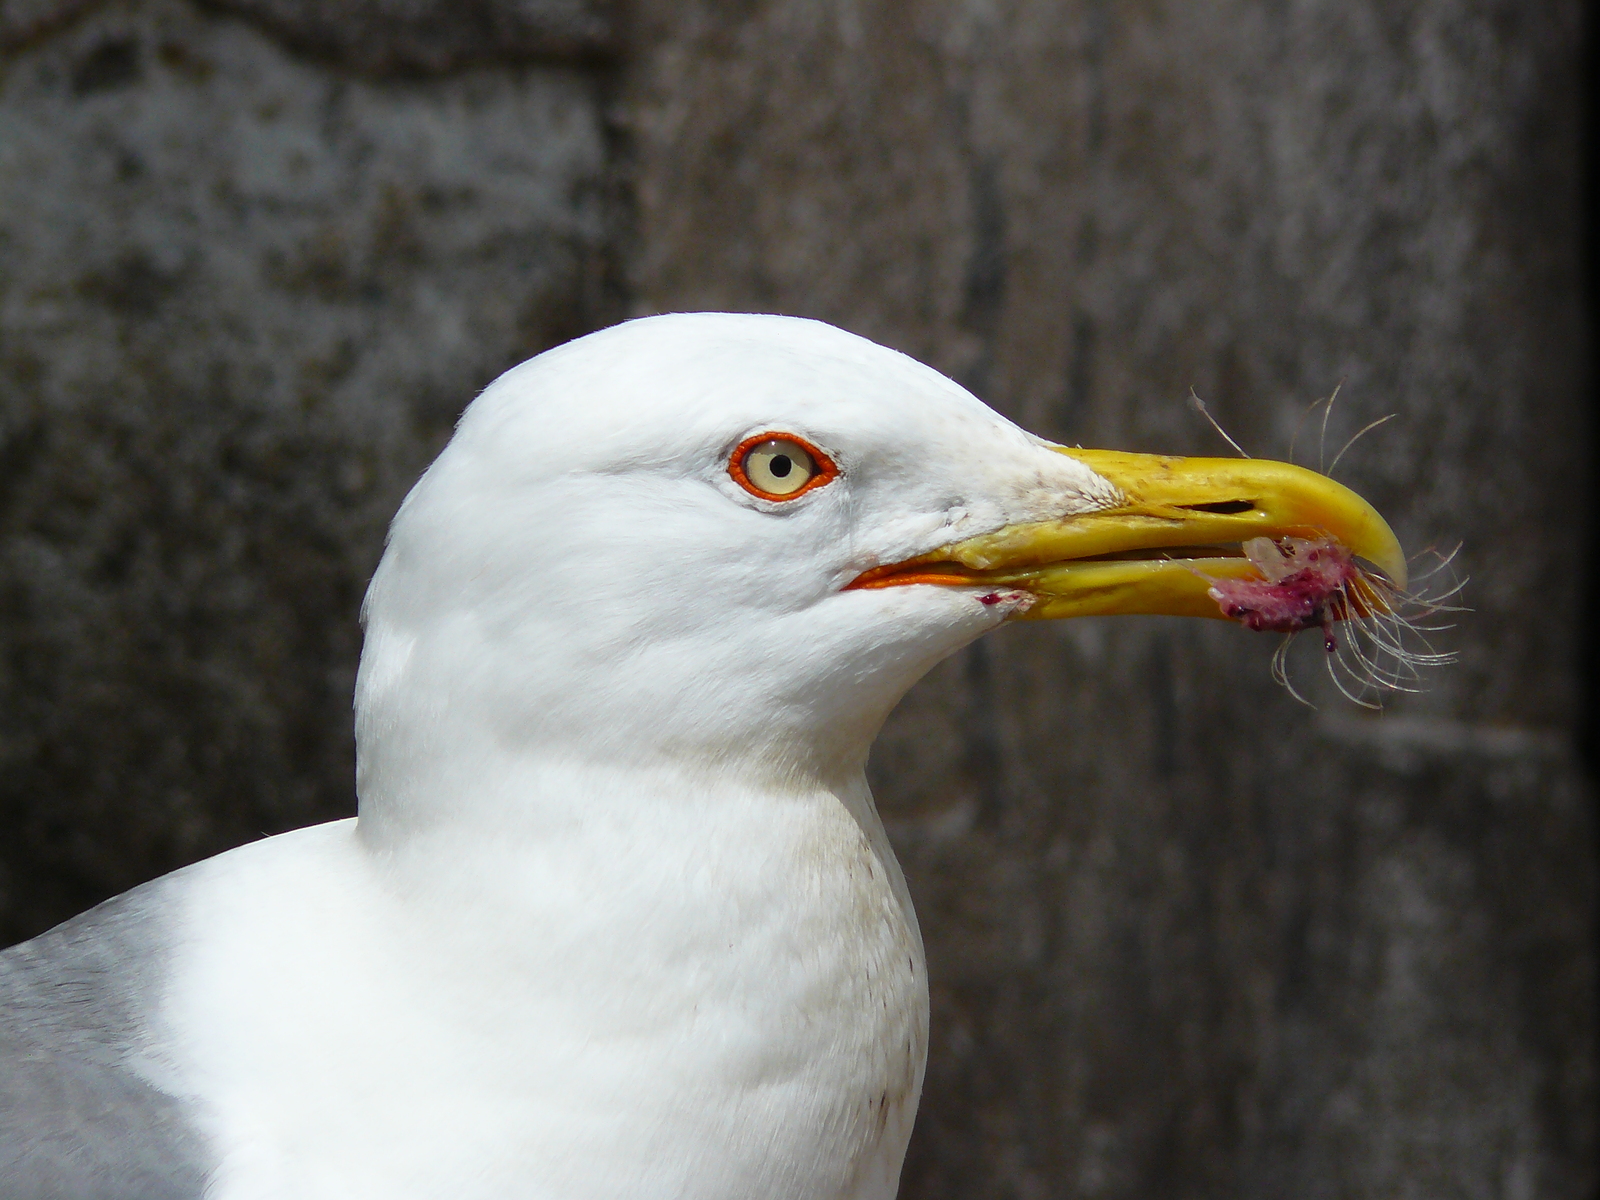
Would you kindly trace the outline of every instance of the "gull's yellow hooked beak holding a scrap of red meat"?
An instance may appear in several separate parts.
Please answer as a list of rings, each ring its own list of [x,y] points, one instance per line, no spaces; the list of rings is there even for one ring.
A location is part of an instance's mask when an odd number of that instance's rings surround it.
[[[1269,459],[1168,458],[1067,450],[1109,480],[1122,501],[1059,520],[1011,525],[946,546],[858,587],[992,584],[1032,592],[1029,618],[1163,613],[1214,616],[1213,579],[1259,578],[1240,544],[1251,538],[1333,538],[1406,586],[1394,531],[1342,483]]]

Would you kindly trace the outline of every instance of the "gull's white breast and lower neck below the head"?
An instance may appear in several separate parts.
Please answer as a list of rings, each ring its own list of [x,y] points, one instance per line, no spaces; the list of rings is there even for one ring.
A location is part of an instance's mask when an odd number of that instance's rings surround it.
[[[864,786],[398,859],[336,822],[187,886],[166,1082],[221,1200],[894,1194],[926,974]]]

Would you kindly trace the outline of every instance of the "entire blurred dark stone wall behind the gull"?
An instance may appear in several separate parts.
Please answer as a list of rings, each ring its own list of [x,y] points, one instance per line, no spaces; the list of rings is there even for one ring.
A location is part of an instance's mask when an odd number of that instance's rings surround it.
[[[1462,662],[1018,626],[874,782],[907,1197],[1587,1197],[1576,0],[0,0],[0,920],[352,806],[355,610],[502,366],[822,317],[1066,442],[1331,459]],[[1306,408],[1342,382],[1326,448]]]

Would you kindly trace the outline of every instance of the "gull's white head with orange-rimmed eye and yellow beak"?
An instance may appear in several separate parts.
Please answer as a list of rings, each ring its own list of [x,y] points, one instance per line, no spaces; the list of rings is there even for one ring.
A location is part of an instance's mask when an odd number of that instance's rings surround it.
[[[363,610],[363,824],[528,765],[835,786],[981,634],[1219,616],[1242,542],[1307,533],[1403,582],[1314,472],[1056,446],[819,322],[627,322],[494,381],[400,507]]]

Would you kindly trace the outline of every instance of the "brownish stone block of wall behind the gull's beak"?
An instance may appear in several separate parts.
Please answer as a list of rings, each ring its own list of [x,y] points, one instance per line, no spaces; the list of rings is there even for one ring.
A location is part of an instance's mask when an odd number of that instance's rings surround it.
[[[1064,442],[1328,458],[1464,544],[1462,664],[1016,627],[874,776],[930,947],[915,1197],[1586,1197],[1579,8],[646,3],[642,309],[822,317]],[[1318,459],[1318,430],[1301,461]],[[1536,616],[1531,616],[1536,610]]]

